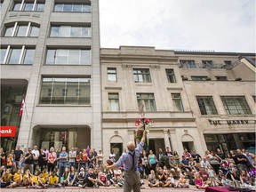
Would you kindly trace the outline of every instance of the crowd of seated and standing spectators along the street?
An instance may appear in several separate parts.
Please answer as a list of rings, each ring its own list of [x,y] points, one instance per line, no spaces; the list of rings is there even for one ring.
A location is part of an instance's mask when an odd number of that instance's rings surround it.
[[[125,152],[125,151],[124,151]],[[0,148],[1,188],[65,188],[68,186],[87,188],[99,186],[124,185],[123,168],[104,170],[106,160],[116,162],[112,149],[108,156],[95,148],[65,147],[37,149],[17,146],[15,150],[4,153]],[[167,147],[159,148],[156,154],[152,150],[143,150],[139,159],[141,185],[148,180],[150,188],[196,188],[208,186],[255,186],[255,155],[244,149],[224,154],[220,148],[205,151],[204,156],[185,148],[182,155]]]

